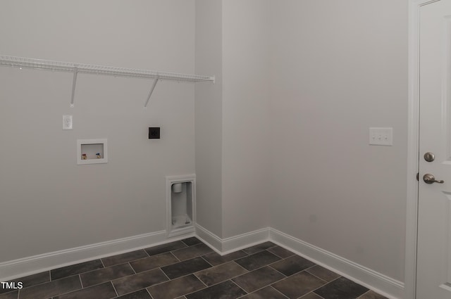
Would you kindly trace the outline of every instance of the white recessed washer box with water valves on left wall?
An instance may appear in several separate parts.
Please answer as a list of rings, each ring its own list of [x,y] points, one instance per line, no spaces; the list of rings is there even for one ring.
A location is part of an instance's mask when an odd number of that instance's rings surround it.
[[[106,139],[77,139],[77,164],[108,163]]]

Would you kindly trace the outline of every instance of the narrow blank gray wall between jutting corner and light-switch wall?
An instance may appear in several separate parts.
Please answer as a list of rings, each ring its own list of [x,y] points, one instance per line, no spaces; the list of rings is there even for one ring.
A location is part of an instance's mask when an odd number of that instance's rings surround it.
[[[223,1],[223,234],[268,227],[268,1]]]

